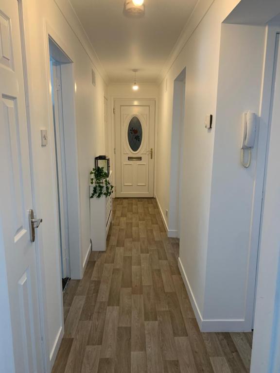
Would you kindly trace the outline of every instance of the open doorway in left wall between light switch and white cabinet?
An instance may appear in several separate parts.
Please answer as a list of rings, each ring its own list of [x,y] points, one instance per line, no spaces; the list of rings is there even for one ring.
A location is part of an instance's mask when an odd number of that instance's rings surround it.
[[[62,77],[61,66],[70,64],[70,59],[49,38],[50,71],[52,83],[53,134],[55,151],[55,169],[57,186],[57,211],[59,224],[60,259],[62,289],[70,278],[68,193],[65,153],[65,126],[63,118]]]

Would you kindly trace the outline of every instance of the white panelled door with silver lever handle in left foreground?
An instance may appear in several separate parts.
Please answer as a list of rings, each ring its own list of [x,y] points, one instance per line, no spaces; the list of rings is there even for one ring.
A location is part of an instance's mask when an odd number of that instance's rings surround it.
[[[28,220],[32,190],[17,0],[0,0],[0,99],[0,235],[15,370],[43,372],[36,254]]]

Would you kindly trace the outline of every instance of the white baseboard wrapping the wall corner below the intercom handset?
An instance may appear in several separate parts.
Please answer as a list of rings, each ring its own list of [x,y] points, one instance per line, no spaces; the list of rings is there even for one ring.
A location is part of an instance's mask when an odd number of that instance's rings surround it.
[[[183,282],[187,289],[187,293],[189,295],[192,309],[198,323],[199,329],[201,332],[249,332],[251,328],[247,325],[244,319],[230,319],[230,320],[214,320],[214,319],[203,319],[201,316],[201,312],[198,308],[196,300],[194,298],[192,288],[190,286],[187,274],[184,270],[182,265],[181,259],[178,258],[178,267],[181,272]]]

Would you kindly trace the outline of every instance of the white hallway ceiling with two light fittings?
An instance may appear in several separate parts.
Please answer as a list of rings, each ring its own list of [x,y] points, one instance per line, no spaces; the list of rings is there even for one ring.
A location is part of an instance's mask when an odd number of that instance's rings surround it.
[[[144,0],[127,17],[124,0],[70,0],[112,83],[156,82],[197,0]]]

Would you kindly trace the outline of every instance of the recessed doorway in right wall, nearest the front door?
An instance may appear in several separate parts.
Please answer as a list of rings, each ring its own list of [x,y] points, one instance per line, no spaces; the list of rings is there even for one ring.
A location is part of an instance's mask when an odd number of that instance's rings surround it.
[[[181,169],[184,149],[186,68],[174,81],[168,237],[180,237]]]

